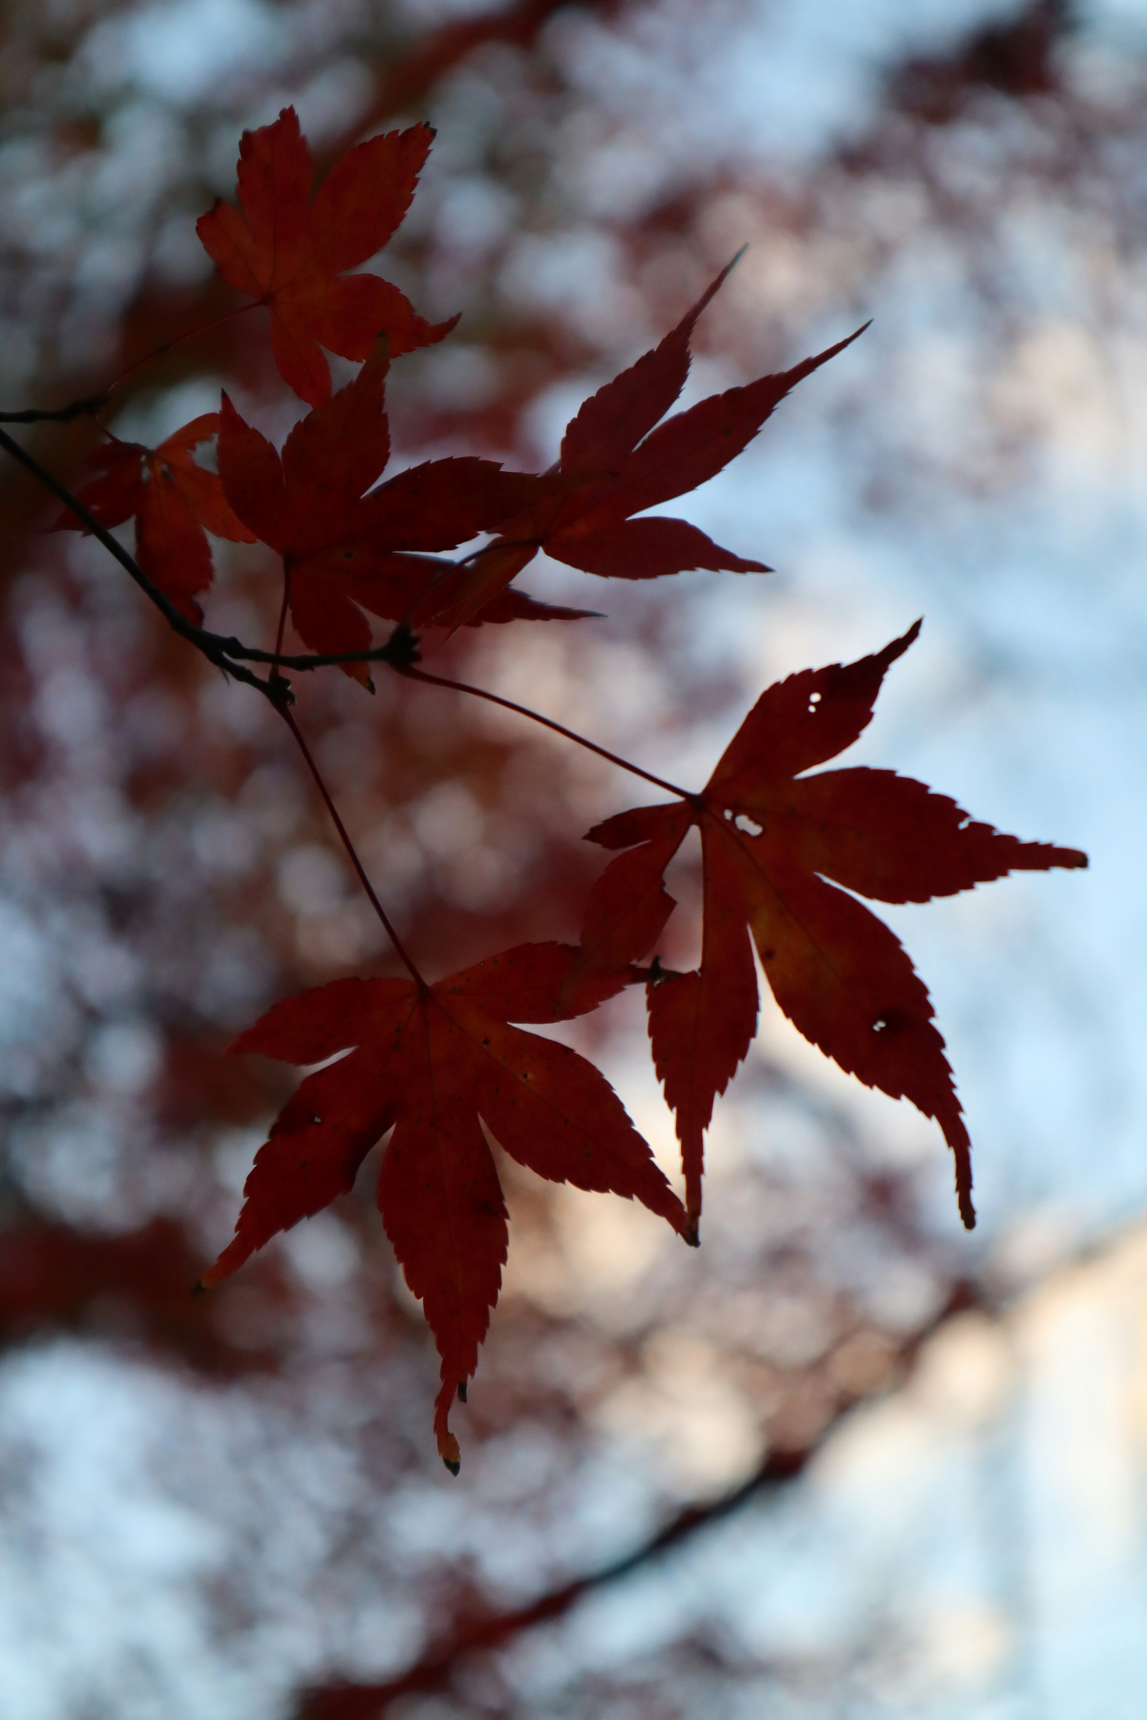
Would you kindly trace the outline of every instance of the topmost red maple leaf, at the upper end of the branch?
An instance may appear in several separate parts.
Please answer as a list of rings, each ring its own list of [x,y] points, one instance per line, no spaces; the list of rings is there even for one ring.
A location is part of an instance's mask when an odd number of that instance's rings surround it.
[[[418,184],[433,131],[411,126],[349,150],[311,200],[315,169],[294,108],[239,141],[239,205],[222,200],[196,222],[224,280],[270,310],[284,382],[310,406],[330,399],[322,346],[366,358],[380,332],[411,353],[451,332],[428,323],[378,275],[349,275],[383,248]]]

